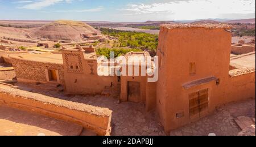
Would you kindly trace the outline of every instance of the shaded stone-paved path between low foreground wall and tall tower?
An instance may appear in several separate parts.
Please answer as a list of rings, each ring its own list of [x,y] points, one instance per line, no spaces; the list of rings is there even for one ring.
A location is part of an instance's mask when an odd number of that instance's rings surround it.
[[[158,136],[166,135],[156,121],[154,113],[146,113],[143,103],[122,102],[104,96],[76,96],[70,101],[93,106],[108,107],[112,114],[112,135]]]

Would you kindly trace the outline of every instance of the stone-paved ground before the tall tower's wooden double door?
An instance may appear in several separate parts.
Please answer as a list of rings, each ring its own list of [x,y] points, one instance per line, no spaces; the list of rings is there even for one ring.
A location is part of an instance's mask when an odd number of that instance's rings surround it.
[[[176,129],[170,133],[171,136],[181,135],[209,135],[215,133],[217,136],[237,136],[241,129],[234,122],[237,116],[249,116],[255,118],[255,99],[242,102],[233,102],[221,106],[212,115],[198,122]]]

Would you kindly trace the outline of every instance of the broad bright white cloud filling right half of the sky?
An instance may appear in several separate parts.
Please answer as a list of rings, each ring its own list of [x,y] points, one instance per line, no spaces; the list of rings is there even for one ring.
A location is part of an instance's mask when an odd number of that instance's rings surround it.
[[[133,3],[122,11],[135,15],[164,14],[170,19],[219,18],[223,14],[253,14],[255,0],[188,0],[166,1],[162,3]]]

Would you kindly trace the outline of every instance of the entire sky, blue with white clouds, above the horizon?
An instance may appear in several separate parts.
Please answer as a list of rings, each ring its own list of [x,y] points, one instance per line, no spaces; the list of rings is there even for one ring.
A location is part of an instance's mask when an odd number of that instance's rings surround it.
[[[255,0],[0,0],[2,20],[147,21],[255,18]]]

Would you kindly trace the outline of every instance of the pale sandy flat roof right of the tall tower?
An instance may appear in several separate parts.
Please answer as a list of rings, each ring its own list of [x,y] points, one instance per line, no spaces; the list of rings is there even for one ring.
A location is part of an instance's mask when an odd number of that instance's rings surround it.
[[[230,65],[236,68],[255,68],[255,51],[230,58]]]

